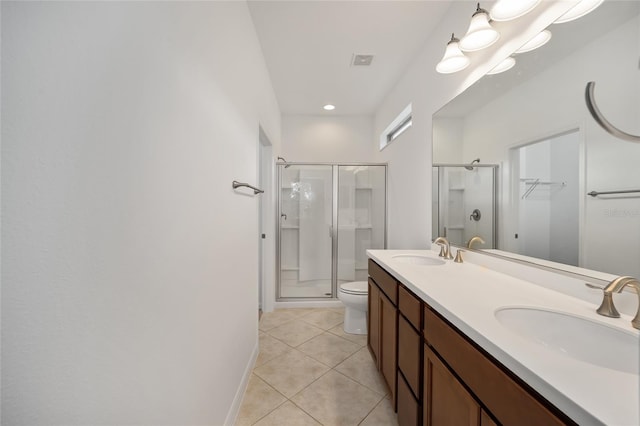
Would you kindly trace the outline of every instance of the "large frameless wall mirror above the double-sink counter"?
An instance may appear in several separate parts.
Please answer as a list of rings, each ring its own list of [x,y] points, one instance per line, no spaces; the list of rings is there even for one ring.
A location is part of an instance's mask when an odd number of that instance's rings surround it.
[[[549,30],[434,115],[434,165],[499,166],[497,238],[475,248],[640,277],[640,143],[607,133],[585,102],[594,81],[603,115],[640,135],[640,2],[605,1]]]

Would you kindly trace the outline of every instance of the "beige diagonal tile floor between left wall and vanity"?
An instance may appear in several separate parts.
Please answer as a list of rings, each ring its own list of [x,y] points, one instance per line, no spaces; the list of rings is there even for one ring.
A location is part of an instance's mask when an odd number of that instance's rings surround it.
[[[260,319],[260,354],[238,426],[397,426],[367,336],[341,308],[278,309]]]

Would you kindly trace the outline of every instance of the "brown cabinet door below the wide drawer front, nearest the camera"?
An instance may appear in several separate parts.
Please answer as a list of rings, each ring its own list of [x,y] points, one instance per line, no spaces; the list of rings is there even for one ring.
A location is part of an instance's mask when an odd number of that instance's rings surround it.
[[[478,403],[427,345],[424,347],[424,380],[424,425],[480,424]]]

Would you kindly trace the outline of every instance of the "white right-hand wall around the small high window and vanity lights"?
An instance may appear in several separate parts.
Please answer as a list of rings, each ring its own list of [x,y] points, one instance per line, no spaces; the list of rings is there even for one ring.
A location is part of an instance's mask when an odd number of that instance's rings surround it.
[[[514,50],[546,28],[571,7],[568,2],[543,2],[533,12],[513,23],[496,23],[501,39],[493,46],[468,54],[471,66],[456,74],[438,74],[451,33],[463,34],[476,2],[453,2],[427,44],[376,111],[374,136],[409,104],[413,127],[383,151],[376,161],[389,163],[389,248],[425,248],[431,241],[431,117],[444,104],[470,86]],[[478,155],[464,155],[476,158]],[[485,156],[481,155],[483,163]],[[469,160],[467,160],[469,161]]]

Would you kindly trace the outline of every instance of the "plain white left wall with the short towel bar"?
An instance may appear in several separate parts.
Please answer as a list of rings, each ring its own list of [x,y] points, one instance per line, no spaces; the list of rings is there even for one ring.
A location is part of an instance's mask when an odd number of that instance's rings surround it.
[[[246,4],[3,2],[2,66],[2,423],[223,424],[280,134]]]

